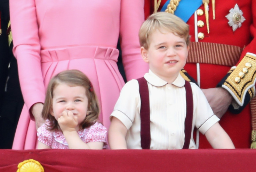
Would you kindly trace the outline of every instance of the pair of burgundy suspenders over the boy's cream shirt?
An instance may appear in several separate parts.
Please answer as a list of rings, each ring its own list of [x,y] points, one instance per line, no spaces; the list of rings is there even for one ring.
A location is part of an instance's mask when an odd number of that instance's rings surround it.
[[[149,88],[144,77],[137,79],[139,83],[139,94],[141,97],[141,147],[150,148],[150,106],[149,106]],[[186,118],[185,118],[185,141],[183,149],[188,149],[192,131],[193,121],[193,95],[189,81],[185,81],[186,89]]]

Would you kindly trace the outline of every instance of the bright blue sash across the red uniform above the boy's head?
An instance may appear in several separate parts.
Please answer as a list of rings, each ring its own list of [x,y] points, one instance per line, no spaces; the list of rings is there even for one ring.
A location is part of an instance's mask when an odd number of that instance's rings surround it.
[[[161,11],[165,11],[169,3],[170,0],[167,0]],[[181,0],[174,14],[184,22],[187,22],[187,20],[189,20],[189,18],[194,14],[195,10],[197,10],[201,5],[202,0]]]

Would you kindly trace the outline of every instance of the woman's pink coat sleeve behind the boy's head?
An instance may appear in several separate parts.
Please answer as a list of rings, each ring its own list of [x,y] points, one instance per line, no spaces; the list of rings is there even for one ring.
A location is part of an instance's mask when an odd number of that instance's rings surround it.
[[[141,57],[139,28],[144,22],[144,0],[121,0],[120,42],[127,81],[143,77],[149,71]]]

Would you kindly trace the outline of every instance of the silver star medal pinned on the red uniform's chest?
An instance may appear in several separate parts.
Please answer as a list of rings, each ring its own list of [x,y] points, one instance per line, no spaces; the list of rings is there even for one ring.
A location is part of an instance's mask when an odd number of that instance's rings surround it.
[[[242,23],[245,21],[245,17],[243,17],[243,12],[239,9],[237,4],[234,8],[231,8],[229,12],[230,13],[226,15],[226,18],[229,20],[229,26],[232,26],[233,32],[235,32],[238,27],[242,26]]]

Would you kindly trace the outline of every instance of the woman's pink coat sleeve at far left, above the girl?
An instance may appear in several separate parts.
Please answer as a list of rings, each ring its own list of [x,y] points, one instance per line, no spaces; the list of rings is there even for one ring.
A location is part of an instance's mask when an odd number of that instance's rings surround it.
[[[19,81],[27,109],[45,100],[36,16],[34,0],[10,0],[13,52],[17,58]],[[30,116],[33,118],[32,114]]]

